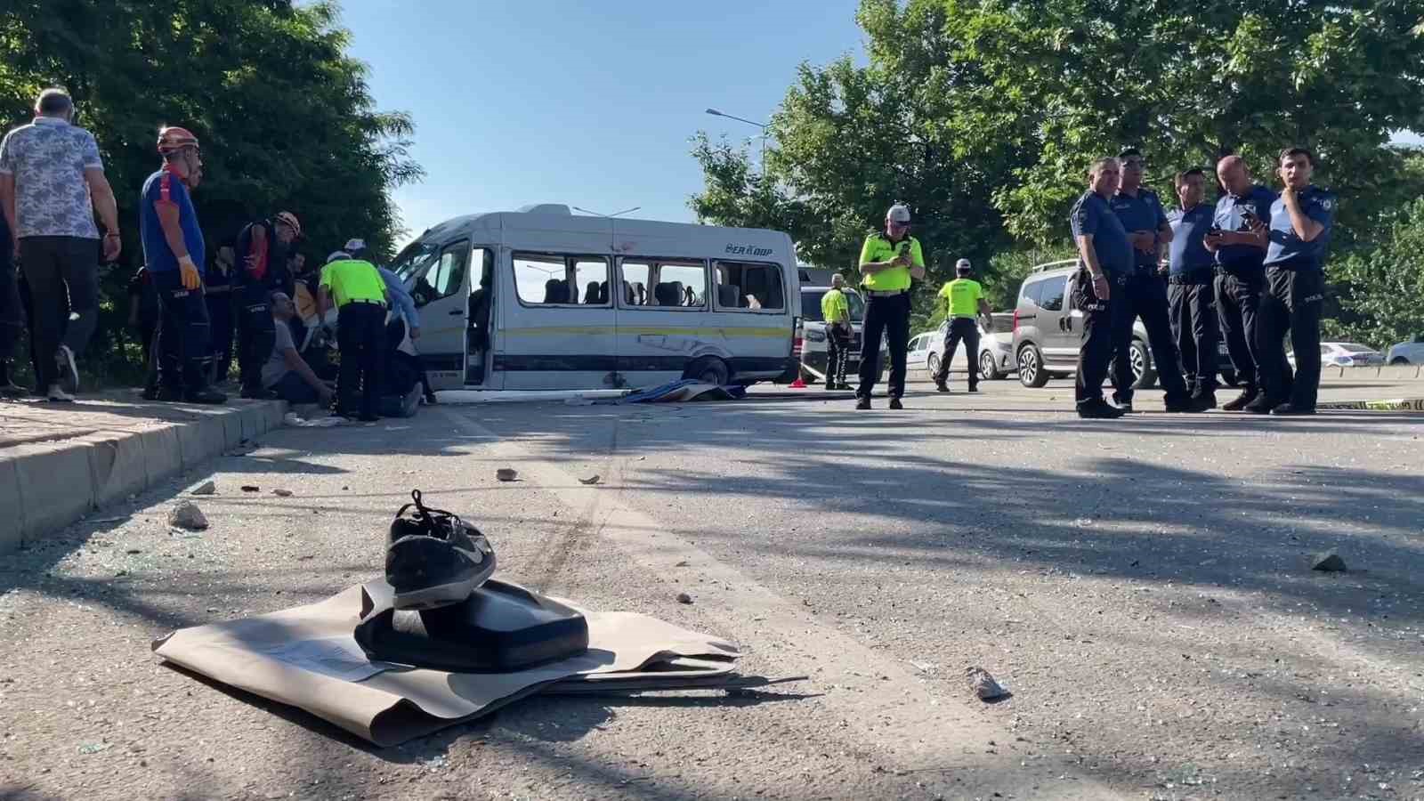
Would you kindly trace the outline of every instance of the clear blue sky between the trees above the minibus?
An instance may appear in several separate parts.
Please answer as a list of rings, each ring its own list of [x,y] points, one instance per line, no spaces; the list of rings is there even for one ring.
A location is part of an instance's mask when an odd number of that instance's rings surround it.
[[[863,58],[856,0],[343,0],[382,110],[416,120],[412,235],[459,214],[567,202],[693,221],[698,130],[759,131],[802,61]]]

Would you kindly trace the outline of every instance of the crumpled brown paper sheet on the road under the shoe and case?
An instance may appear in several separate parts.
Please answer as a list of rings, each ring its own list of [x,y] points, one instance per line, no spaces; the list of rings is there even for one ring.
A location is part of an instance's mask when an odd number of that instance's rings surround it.
[[[609,687],[644,676],[725,676],[740,656],[716,637],[645,614],[580,610],[590,639],[581,656],[517,673],[444,673],[370,661],[352,636],[362,606],[355,586],[315,604],[179,629],[152,647],[167,661],[306,710],[377,745],[477,718],[545,688],[585,686],[595,676],[607,676]]]

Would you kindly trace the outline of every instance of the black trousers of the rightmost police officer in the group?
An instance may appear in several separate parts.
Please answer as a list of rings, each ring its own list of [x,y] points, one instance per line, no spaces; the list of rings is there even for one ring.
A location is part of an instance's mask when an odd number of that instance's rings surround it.
[[[1276,402],[1316,408],[1320,389],[1320,308],[1324,305],[1324,272],[1313,264],[1270,267],[1266,294],[1256,324],[1262,392]],[[1286,334],[1296,352],[1296,375],[1286,361]]]

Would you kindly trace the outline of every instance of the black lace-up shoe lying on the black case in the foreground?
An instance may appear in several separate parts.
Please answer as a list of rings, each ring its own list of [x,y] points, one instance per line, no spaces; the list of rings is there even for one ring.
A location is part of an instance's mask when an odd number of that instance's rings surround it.
[[[494,549],[474,526],[440,509],[427,509],[420,490],[390,523],[386,582],[396,609],[436,609],[470,597],[494,573]],[[414,507],[409,516],[407,510]]]

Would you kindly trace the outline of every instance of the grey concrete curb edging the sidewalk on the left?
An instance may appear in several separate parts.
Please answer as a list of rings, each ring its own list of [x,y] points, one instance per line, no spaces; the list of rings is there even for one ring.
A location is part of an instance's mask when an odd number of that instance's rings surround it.
[[[0,452],[0,554],[281,428],[286,403],[244,400],[194,410],[201,412],[195,419],[142,432],[90,433]]]

